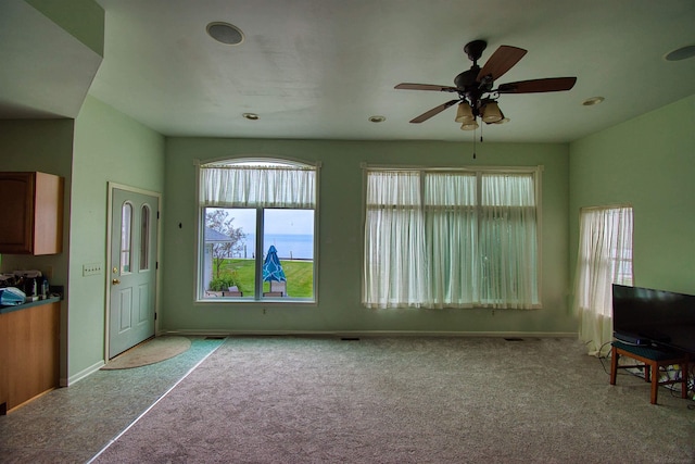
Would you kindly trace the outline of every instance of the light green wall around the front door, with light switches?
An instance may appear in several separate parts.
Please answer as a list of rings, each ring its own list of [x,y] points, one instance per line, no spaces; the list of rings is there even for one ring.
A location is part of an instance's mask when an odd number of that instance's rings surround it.
[[[106,263],[108,183],[163,191],[164,137],[88,96],[73,156],[68,378],[103,361],[109,274],[85,277],[81,267]]]

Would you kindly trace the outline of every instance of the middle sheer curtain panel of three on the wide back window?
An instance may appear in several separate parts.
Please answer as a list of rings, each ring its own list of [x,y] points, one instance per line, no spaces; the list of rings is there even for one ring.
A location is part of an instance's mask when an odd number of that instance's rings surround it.
[[[478,300],[477,176],[425,176],[425,217],[429,266],[429,308],[472,308]]]

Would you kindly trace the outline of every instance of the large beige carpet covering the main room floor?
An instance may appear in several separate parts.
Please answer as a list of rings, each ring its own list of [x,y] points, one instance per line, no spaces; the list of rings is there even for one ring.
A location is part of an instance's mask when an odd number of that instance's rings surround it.
[[[691,403],[574,339],[235,337],[91,462],[692,464]]]

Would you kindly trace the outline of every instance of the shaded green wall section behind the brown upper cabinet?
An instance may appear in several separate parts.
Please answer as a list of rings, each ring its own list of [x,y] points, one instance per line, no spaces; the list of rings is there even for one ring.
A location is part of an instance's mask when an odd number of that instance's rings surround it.
[[[41,171],[65,178],[63,212],[63,252],[45,256],[0,256],[2,272],[14,269],[39,269],[52,267],[51,285],[67,288],[70,189],[73,159],[73,120],[21,120],[0,121],[0,171]],[[7,201],[7,200],[5,200]],[[61,304],[61,377],[67,369],[67,304]]]

